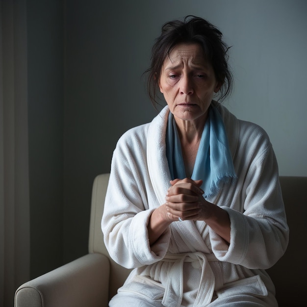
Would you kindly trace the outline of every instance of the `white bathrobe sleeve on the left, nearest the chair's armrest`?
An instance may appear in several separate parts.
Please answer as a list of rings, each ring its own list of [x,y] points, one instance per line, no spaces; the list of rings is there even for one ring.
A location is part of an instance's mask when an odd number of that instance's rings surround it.
[[[146,126],[133,128],[118,141],[113,153],[102,231],[114,261],[136,268],[161,260],[168,249],[170,231],[149,245],[148,222],[155,207],[146,161]]]

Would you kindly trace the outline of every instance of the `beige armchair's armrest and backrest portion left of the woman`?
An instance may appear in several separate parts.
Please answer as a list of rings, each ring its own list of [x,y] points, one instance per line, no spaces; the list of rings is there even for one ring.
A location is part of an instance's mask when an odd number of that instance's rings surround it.
[[[15,307],[104,307],[124,283],[129,270],[110,259],[103,243],[101,218],[109,174],[95,178],[89,254],[21,285]]]

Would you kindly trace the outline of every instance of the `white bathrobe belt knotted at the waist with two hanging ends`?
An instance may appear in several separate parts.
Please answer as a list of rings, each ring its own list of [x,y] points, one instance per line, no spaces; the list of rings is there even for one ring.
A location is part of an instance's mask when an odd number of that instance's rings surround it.
[[[218,261],[213,254],[201,252],[186,254],[167,254],[162,261],[173,262],[165,286],[162,305],[167,307],[179,307],[183,296],[183,263],[192,262],[201,266],[202,275],[197,297],[193,307],[204,307],[210,304],[215,287],[215,278],[208,261]]]

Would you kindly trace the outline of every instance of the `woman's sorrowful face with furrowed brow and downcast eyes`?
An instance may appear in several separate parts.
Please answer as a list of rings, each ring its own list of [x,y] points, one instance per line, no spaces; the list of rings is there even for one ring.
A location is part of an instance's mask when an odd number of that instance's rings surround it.
[[[164,60],[159,88],[176,122],[203,121],[220,84],[198,44],[179,44]]]

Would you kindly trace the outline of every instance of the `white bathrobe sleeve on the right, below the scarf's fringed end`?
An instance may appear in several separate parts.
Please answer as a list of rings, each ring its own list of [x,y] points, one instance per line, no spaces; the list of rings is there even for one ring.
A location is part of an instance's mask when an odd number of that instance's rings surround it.
[[[210,230],[212,250],[221,261],[267,269],[288,244],[278,166],[265,131],[248,124],[242,130],[235,162],[237,190],[233,203],[221,206],[230,216],[230,244]]]

